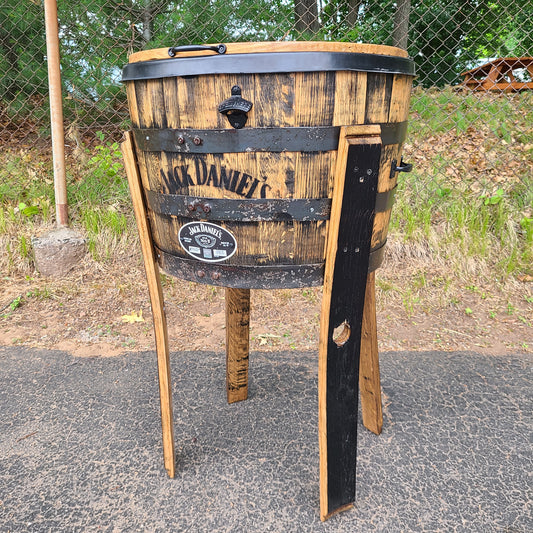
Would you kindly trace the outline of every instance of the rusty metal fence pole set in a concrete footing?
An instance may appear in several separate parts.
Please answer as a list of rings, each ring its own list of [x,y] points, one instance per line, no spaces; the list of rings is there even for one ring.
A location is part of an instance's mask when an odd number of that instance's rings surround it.
[[[57,1],[44,0],[46,27],[46,56],[48,63],[48,90],[50,95],[50,121],[52,127],[52,154],[54,160],[54,192],[56,223],[68,225],[67,178],[65,172],[65,132],[63,126],[63,100],[59,59],[59,26]]]

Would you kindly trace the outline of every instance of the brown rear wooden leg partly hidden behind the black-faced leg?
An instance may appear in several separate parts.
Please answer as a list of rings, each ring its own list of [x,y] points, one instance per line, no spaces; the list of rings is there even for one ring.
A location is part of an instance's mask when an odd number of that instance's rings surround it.
[[[383,427],[383,411],[381,408],[375,284],[376,274],[371,272],[366,281],[365,308],[361,331],[359,394],[361,397],[363,424],[367,429],[379,435]]]

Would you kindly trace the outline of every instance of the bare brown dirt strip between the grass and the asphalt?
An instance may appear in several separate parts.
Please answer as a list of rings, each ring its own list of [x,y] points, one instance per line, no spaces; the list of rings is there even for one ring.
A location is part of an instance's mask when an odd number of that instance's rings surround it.
[[[0,345],[81,357],[154,350],[136,250],[107,266],[87,259],[61,280],[35,273],[0,282]],[[171,350],[223,352],[225,290],[167,277],[163,288]],[[252,291],[251,350],[318,350],[320,301],[321,288]],[[531,281],[449,277],[427,257],[404,257],[401,268],[389,257],[377,273],[377,302],[380,351],[533,351]]]

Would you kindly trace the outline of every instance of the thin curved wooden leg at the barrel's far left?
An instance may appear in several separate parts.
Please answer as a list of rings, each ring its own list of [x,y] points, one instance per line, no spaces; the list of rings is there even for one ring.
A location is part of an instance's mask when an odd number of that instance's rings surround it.
[[[161,402],[161,426],[163,430],[163,457],[165,469],[169,477],[175,474],[174,454],[174,425],[172,418],[172,386],[170,380],[170,358],[168,346],[167,323],[163,301],[159,267],[154,254],[150,226],[146,216],[146,208],[142,195],[141,177],[133,149],[131,132],[125,133],[125,140],[121,145],[124,165],[128,177],[128,184],[133,202],[133,210],[137,220],[137,229],[141,241],[141,249],[148,282],[148,291],[152,305],[154,319],[154,334],[156,340],[157,366],[159,373],[159,397]]]

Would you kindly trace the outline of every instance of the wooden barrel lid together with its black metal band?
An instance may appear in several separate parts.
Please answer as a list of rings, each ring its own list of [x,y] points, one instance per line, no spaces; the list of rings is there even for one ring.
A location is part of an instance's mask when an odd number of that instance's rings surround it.
[[[230,43],[160,48],[132,54],[122,81],[197,76],[351,70],[414,76],[414,62],[400,48],[327,41]],[[170,55],[169,55],[170,51]],[[201,59],[201,61],[199,61]]]

